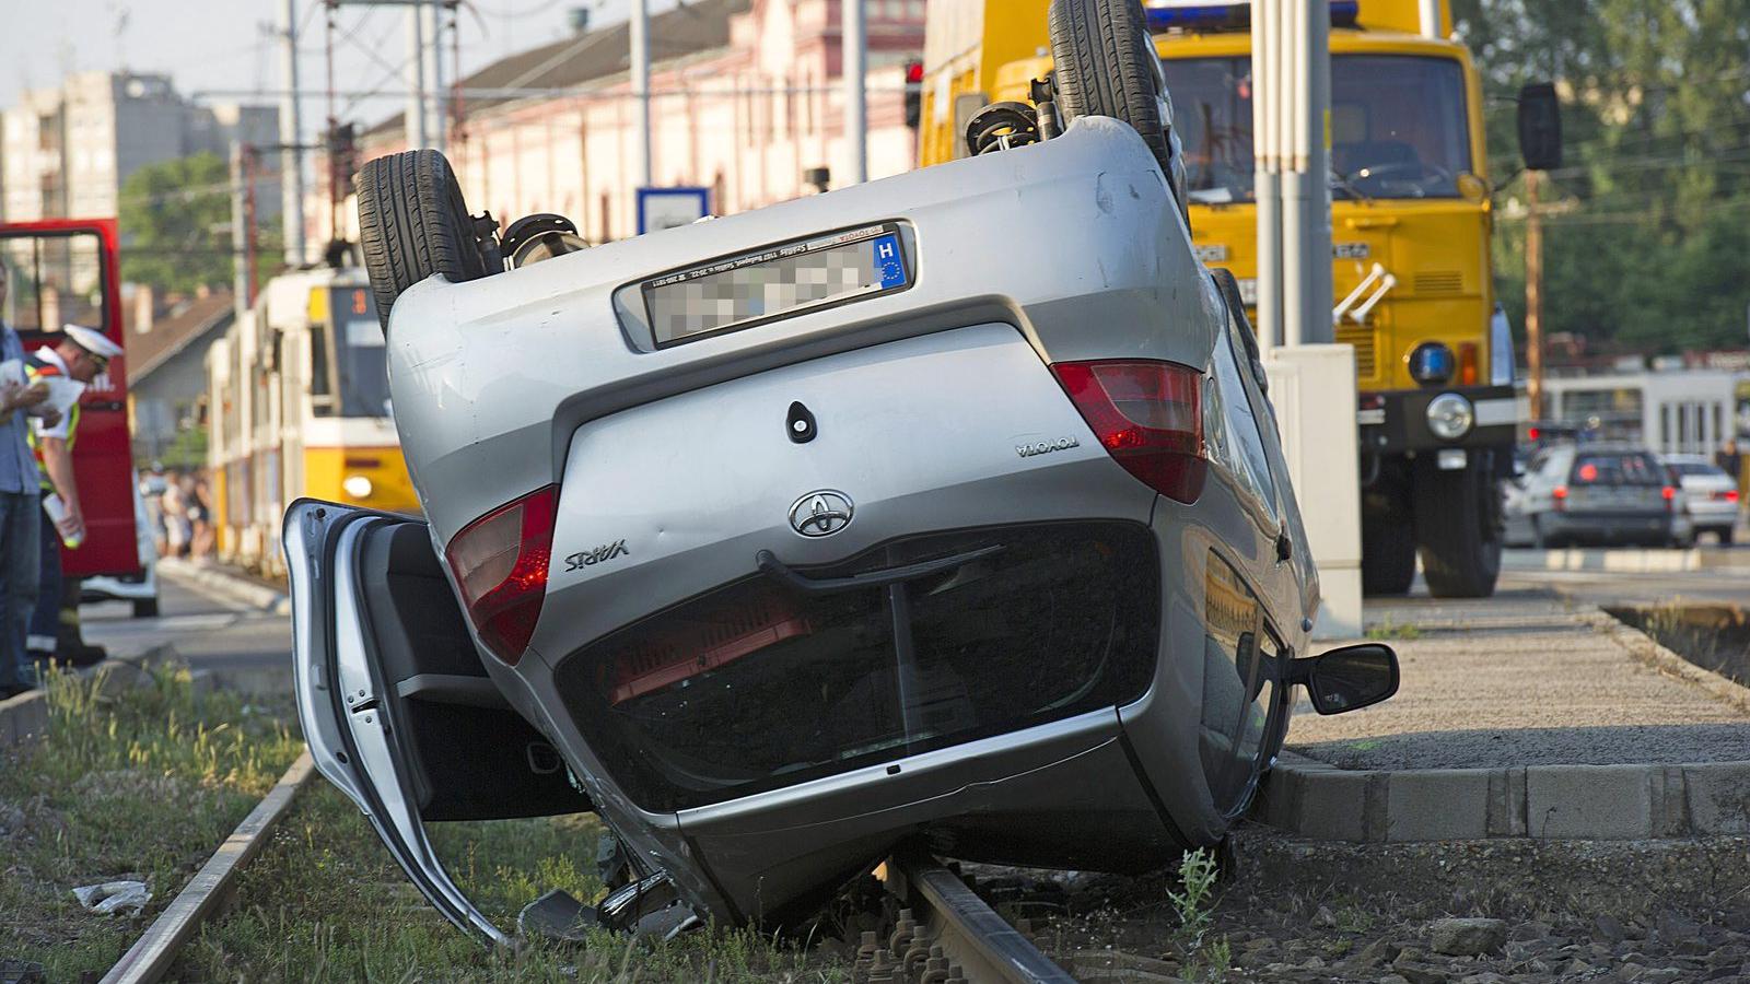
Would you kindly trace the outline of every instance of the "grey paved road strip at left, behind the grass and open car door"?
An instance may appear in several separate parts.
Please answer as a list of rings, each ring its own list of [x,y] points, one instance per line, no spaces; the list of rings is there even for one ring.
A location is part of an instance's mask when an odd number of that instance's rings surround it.
[[[133,618],[126,602],[82,606],[86,641],[117,653],[175,643],[184,660],[206,669],[290,665],[290,618],[242,608],[172,578],[159,578],[158,592],[158,618]]]

